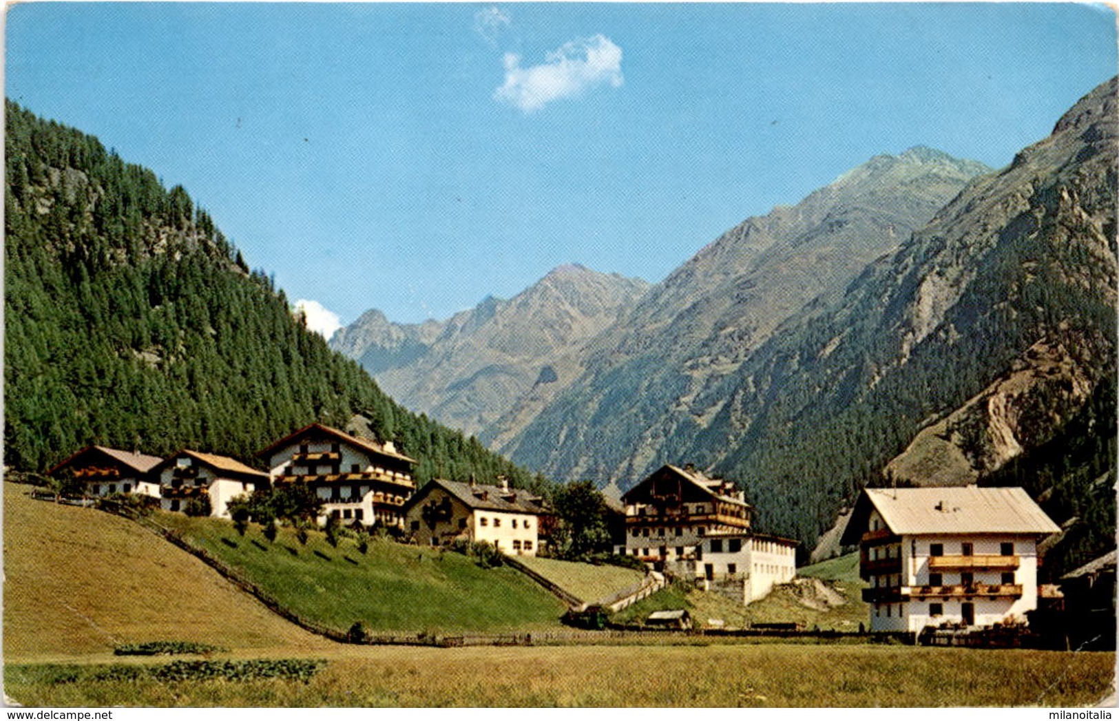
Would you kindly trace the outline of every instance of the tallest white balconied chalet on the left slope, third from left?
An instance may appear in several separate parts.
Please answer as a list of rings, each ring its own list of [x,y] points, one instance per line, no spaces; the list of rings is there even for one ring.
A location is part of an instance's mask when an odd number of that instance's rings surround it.
[[[392,442],[378,443],[312,423],[257,452],[272,483],[305,484],[322,500],[328,517],[350,525],[403,530],[404,504],[415,491],[416,461]]]

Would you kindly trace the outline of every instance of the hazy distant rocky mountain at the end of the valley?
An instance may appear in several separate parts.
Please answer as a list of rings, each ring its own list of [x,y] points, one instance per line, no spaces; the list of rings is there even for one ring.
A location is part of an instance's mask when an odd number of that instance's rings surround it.
[[[574,378],[582,346],[648,283],[581,265],[556,268],[510,300],[487,298],[444,321],[364,313],[331,339],[406,408],[477,434]]]

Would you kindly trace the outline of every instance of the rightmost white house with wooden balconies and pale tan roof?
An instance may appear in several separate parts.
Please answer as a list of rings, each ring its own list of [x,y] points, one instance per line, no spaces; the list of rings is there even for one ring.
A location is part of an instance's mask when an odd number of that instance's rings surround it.
[[[844,545],[858,544],[871,630],[1025,620],[1037,607],[1037,542],[1060,528],[1022,488],[867,488]]]

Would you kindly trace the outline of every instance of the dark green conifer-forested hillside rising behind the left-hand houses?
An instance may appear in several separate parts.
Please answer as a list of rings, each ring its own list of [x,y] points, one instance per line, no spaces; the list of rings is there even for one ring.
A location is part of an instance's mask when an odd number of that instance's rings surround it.
[[[182,187],[7,103],[4,464],[88,443],[246,461],[307,423],[369,419],[416,476],[539,483],[414,415],[331,352]]]

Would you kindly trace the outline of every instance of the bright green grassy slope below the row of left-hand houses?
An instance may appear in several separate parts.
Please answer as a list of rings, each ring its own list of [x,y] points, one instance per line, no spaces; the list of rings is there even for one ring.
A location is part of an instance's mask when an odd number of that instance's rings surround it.
[[[496,631],[558,626],[565,606],[518,571],[482,569],[458,553],[373,540],[367,553],[352,539],[331,547],[321,532],[301,545],[290,528],[274,543],[251,524],[244,536],[217,518],[161,513],[227,564],[311,620],[347,629]]]

